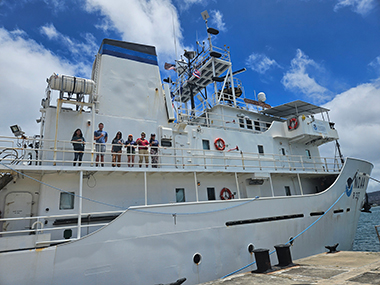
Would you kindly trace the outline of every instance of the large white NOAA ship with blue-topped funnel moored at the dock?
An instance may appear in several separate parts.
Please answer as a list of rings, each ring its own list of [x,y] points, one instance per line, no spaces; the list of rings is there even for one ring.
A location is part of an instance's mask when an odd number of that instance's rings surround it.
[[[207,40],[171,76],[154,46],[104,39],[91,79],[47,79],[39,134],[1,136],[0,284],[198,284],[255,270],[276,245],[295,259],[352,249],[373,165],[343,157],[327,108],[246,98],[202,16]],[[119,131],[159,145],[112,152]]]

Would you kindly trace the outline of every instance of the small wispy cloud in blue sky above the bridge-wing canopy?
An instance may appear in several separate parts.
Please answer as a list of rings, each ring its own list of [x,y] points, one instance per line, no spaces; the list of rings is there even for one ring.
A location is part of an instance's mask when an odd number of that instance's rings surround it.
[[[322,103],[328,100],[331,92],[317,83],[311,77],[310,72],[317,74],[323,67],[310,59],[300,49],[297,50],[296,57],[291,61],[291,67],[284,74],[281,83],[288,90],[304,94],[313,103]]]

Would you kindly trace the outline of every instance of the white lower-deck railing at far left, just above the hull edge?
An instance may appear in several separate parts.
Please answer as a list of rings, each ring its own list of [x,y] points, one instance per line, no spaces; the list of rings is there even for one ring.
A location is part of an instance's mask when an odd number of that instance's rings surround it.
[[[9,239],[16,236],[24,236],[26,238],[32,237],[36,247],[39,245],[50,245],[62,242],[68,242],[72,240],[79,239],[96,229],[104,227],[110,223],[113,219],[123,213],[121,211],[102,211],[102,212],[89,212],[89,213],[73,213],[73,214],[62,214],[62,215],[45,215],[45,216],[34,216],[34,217],[19,217],[19,218],[0,218],[0,252],[11,250],[9,244],[11,242],[4,241],[4,239]],[[108,222],[91,222],[91,218],[96,220],[97,217],[108,216]],[[70,219],[71,218],[71,219]],[[67,222],[63,224],[55,225],[57,219],[66,219]],[[79,220],[80,219],[80,220]],[[88,222],[85,222],[86,219]],[[23,223],[24,230],[6,230],[12,223]],[[45,226],[45,224],[50,224]],[[53,226],[51,226],[53,225]],[[20,228],[20,224],[17,225]],[[51,238],[54,233],[55,236],[62,236],[62,230],[68,230],[65,239],[61,238]],[[76,232],[75,232],[76,231]],[[42,238],[38,238],[38,236]],[[27,243],[26,243],[27,244]]]

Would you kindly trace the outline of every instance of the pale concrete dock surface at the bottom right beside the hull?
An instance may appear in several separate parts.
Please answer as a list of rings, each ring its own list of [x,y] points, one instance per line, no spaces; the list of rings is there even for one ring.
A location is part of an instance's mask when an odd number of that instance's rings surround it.
[[[380,284],[380,252],[339,251],[294,260],[269,273],[242,273],[203,285]]]

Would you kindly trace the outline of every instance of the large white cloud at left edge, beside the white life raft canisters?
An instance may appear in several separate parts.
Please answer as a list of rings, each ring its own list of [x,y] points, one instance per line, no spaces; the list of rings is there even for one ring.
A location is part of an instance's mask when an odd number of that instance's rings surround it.
[[[74,66],[54,56],[27,37],[25,32],[0,28],[1,134],[12,135],[9,126],[19,124],[27,135],[39,133],[36,118],[53,72],[75,75]]]

